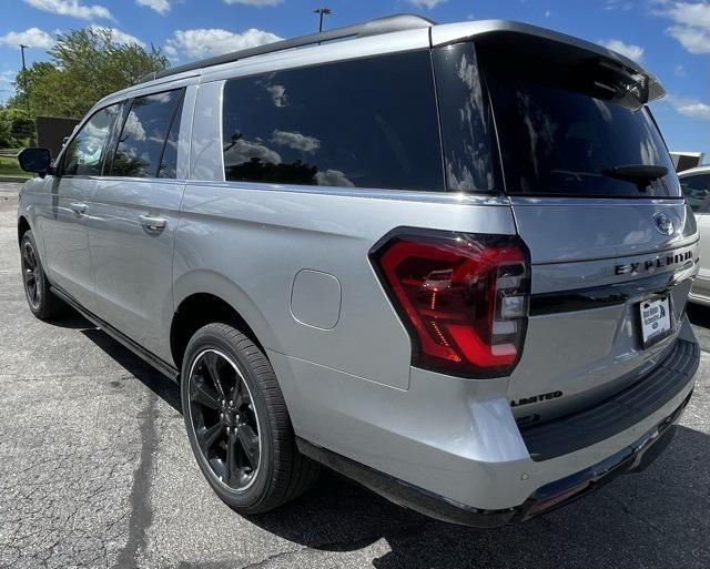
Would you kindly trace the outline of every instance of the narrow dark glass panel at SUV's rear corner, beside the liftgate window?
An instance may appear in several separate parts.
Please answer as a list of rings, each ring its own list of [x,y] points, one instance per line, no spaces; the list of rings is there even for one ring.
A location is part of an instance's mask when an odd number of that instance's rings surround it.
[[[434,50],[444,164],[452,190],[500,189],[490,109],[473,43]]]

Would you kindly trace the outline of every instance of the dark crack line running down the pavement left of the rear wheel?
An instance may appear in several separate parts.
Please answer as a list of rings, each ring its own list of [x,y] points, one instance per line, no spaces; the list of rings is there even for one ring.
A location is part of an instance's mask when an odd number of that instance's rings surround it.
[[[149,403],[141,411],[141,458],[133,474],[133,487],[131,489],[131,517],[129,520],[129,537],[125,546],[116,558],[118,568],[134,568],[138,555],[145,549],[146,529],[153,521],[151,508],[151,481],[153,478],[153,456],[158,448],[158,397],[149,395]]]

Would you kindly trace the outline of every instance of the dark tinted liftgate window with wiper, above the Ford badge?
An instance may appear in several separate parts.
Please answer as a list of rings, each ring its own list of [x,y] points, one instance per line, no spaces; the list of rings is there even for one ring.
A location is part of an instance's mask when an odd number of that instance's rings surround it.
[[[481,49],[506,189],[510,194],[678,197],[668,150],[646,106],[622,105],[596,80],[600,67],[566,68],[520,52]],[[623,166],[665,166],[652,180]],[[616,170],[615,170],[616,169]],[[628,171],[628,169],[627,169]]]

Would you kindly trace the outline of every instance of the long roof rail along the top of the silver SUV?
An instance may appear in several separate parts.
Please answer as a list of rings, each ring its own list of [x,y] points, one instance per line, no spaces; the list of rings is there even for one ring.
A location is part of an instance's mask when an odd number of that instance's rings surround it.
[[[255,55],[263,55],[265,53],[274,53],[276,51],[290,50],[293,48],[302,48],[304,45],[315,45],[334,40],[344,40],[349,38],[366,38],[368,35],[378,35],[381,33],[389,33],[402,30],[416,30],[420,28],[429,28],[435,26],[436,22],[416,16],[412,13],[399,13],[394,16],[386,16],[384,18],[375,18],[366,22],[354,23],[352,26],[345,26],[344,28],[335,28],[320,33],[310,33],[307,35],[301,35],[291,40],[282,40],[273,43],[266,43],[264,45],[257,45],[256,48],[248,48],[245,50],[234,51],[232,53],[225,53],[224,55],[216,55],[214,58],[203,59],[200,61],[193,61],[192,63],[185,63],[184,65],[178,65],[176,68],[164,69],[162,71],[153,71],[148,73],[139,83],[145,83],[155,79],[164,77],[176,75],[178,73],[184,73],[185,71],[192,71],[195,69],[209,68],[213,65],[220,65],[222,63],[231,63],[245,58],[253,58]]]

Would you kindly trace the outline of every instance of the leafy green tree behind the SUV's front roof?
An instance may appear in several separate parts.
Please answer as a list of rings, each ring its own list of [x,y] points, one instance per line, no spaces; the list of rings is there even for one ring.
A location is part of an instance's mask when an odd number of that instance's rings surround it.
[[[49,62],[18,73],[10,106],[29,109],[32,116],[80,119],[102,96],[169,64],[160,49],[115,43],[111,30],[102,28],[60,33],[48,54]]]

